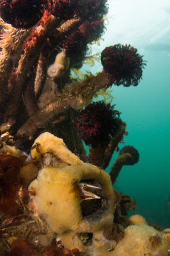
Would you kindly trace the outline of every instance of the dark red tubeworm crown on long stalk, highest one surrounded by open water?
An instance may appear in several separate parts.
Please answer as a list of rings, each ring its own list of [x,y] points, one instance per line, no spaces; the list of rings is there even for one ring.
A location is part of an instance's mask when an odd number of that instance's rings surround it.
[[[104,72],[111,78],[115,85],[138,85],[143,74],[143,56],[137,53],[137,49],[130,45],[106,47],[102,51],[101,62]]]

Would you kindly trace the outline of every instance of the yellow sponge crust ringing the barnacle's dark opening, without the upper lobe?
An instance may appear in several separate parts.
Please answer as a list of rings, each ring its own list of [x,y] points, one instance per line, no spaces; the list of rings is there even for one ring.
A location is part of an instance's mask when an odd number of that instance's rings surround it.
[[[100,218],[83,218],[81,210],[82,180],[98,180],[102,185],[107,208],[100,213]],[[93,232],[105,225],[111,225],[114,213],[114,191],[111,180],[105,171],[91,164],[77,166],[44,167],[36,180],[31,182],[29,190],[35,191],[32,197],[38,212],[45,218],[51,230],[62,234],[76,230],[77,232]]]

